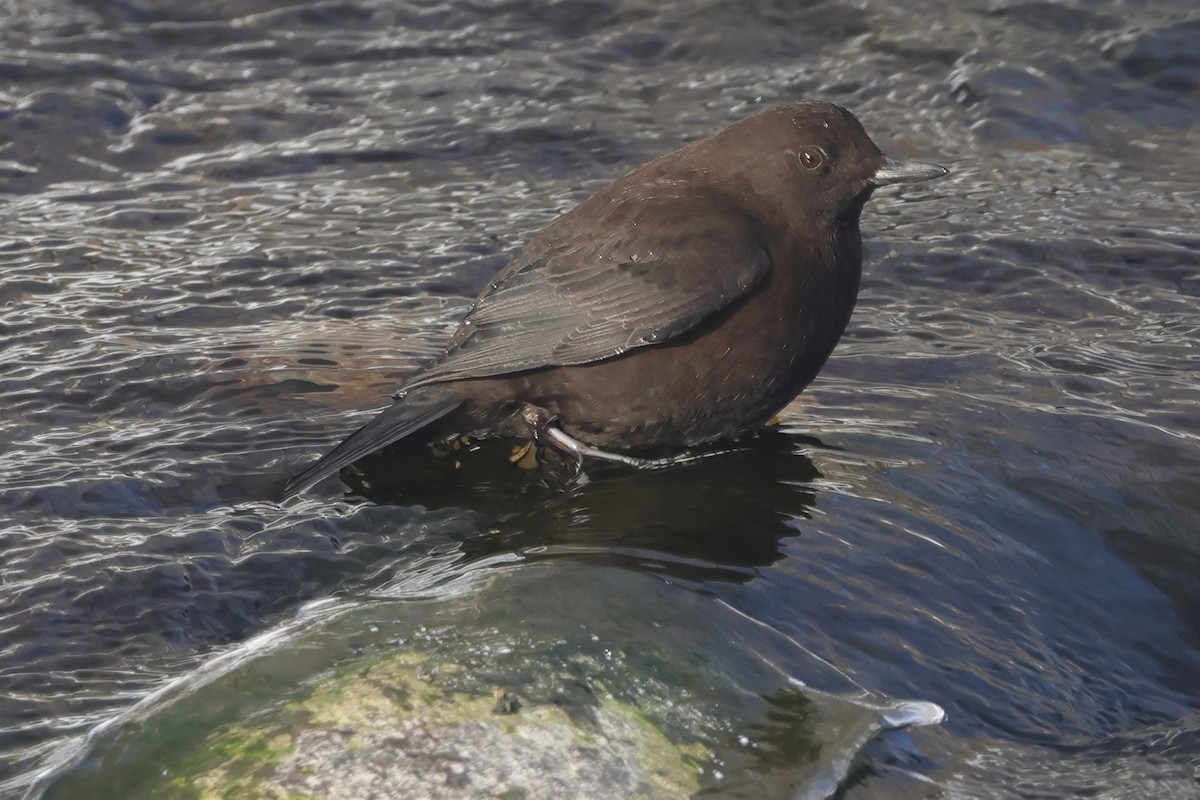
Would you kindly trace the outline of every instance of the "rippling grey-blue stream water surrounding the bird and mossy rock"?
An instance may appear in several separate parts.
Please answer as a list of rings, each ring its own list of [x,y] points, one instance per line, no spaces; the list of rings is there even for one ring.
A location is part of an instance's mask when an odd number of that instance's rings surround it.
[[[488,594],[482,643],[707,648],[760,698],[730,742],[778,758],[731,744],[712,793],[791,790],[799,680],[947,710],[845,798],[1200,796],[1194,4],[0,10],[0,794],[306,601],[494,575],[559,616]],[[272,503],[529,233],[796,97],[954,173],[868,206],[779,431]]]

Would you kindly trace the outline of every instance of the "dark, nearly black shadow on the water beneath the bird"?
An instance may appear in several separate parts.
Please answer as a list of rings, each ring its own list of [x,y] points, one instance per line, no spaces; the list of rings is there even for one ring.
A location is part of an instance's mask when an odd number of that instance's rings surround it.
[[[781,555],[779,542],[816,503],[820,473],[799,452],[820,446],[778,431],[695,462],[636,470],[589,462],[522,470],[510,443],[451,457],[427,449],[385,451],[344,477],[380,504],[455,505],[494,528],[462,543],[468,559],[517,553],[527,563],[574,561],[662,572],[690,581],[742,582]]]

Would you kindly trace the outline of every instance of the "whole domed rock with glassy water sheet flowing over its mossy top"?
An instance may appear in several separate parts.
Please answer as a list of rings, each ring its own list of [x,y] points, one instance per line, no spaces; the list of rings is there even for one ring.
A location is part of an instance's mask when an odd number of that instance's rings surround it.
[[[322,601],[96,726],[26,796],[824,800],[881,734],[942,718],[784,676],[836,675],[738,622],[654,576],[569,563]]]

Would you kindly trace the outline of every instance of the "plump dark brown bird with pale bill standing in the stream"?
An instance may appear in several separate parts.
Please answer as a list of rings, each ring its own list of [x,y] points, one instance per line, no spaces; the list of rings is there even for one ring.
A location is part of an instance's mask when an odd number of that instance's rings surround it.
[[[948,172],[886,156],[821,101],[659,156],[534,235],[442,354],[284,498],[418,432],[632,467],[736,440],[794,399],[845,331],[872,192]]]

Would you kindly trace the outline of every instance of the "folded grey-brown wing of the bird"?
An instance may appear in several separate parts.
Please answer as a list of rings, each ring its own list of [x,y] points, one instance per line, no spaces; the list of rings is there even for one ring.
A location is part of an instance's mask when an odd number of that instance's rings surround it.
[[[653,222],[652,218],[653,217]],[[564,218],[505,267],[415,386],[588,363],[666,342],[734,302],[770,271],[752,222],[676,201],[604,237]],[[599,227],[599,225],[594,225]]]

